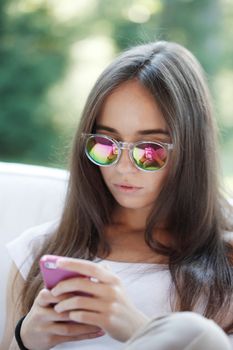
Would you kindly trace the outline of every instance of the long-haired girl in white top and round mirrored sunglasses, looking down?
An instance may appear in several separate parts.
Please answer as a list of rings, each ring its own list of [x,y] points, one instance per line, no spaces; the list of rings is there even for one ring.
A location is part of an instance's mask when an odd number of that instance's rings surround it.
[[[178,44],[132,48],[103,72],[62,217],[8,246],[4,350],[233,348],[232,211],[212,114],[202,69]],[[45,289],[44,254],[91,278]]]

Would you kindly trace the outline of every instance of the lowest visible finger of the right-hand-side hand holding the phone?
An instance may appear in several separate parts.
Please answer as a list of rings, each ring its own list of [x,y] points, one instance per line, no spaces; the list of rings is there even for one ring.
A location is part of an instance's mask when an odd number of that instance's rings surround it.
[[[100,313],[107,310],[107,305],[107,303],[96,298],[73,297],[55,305],[54,310],[58,313],[71,310],[89,310]]]

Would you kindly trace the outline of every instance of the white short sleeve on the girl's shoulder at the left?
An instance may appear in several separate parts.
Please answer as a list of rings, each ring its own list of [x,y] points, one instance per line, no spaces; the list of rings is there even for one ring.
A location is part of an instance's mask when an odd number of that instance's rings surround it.
[[[33,264],[35,248],[37,251],[40,249],[45,238],[54,232],[58,223],[59,220],[56,220],[32,227],[6,245],[12,261],[24,280]]]

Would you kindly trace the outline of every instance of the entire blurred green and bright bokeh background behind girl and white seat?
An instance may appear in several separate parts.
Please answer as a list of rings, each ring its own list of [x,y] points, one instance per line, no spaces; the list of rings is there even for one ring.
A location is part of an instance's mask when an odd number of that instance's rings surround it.
[[[98,75],[158,39],[183,44],[206,71],[233,193],[232,0],[1,0],[0,161],[66,167]]]

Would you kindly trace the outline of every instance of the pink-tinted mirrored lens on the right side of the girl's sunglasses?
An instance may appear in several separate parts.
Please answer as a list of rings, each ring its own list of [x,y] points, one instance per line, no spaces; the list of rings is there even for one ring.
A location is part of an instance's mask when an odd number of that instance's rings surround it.
[[[167,150],[156,143],[141,143],[134,147],[133,158],[141,169],[159,170],[167,161]]]

